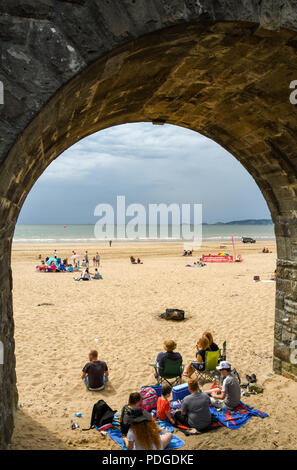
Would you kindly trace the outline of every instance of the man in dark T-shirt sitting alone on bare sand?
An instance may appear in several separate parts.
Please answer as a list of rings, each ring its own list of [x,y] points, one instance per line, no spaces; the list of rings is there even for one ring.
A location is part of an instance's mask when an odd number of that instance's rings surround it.
[[[89,353],[89,362],[82,370],[82,376],[88,390],[103,390],[108,381],[108,367],[106,362],[98,361],[98,352],[93,349]]]

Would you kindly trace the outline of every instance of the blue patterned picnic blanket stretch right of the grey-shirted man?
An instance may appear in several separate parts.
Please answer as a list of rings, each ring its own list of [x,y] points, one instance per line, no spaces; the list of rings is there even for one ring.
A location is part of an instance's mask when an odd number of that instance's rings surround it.
[[[213,406],[209,407],[210,412],[214,415],[220,423],[226,426],[229,429],[238,429],[241,428],[249,419],[253,416],[258,416],[259,418],[267,418],[268,414],[260,410],[255,410],[251,406],[246,405],[245,403],[240,402],[234,410],[217,410]]]

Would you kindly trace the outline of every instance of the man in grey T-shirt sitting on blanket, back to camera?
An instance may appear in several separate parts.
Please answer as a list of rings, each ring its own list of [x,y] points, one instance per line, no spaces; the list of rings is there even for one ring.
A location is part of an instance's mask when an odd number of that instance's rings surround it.
[[[187,395],[183,401],[181,410],[174,413],[174,421],[177,424],[203,431],[211,424],[209,395],[202,392],[196,379],[190,379],[188,388],[191,395]]]

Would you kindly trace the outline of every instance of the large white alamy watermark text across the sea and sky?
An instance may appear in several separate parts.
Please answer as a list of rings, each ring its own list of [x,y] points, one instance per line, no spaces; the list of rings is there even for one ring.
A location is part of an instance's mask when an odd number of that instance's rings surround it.
[[[100,217],[94,233],[99,240],[176,240],[202,243],[202,204],[143,204],[126,207],[125,196],[117,196],[116,214],[111,204],[98,204],[94,215]],[[129,220],[127,220],[129,218]]]

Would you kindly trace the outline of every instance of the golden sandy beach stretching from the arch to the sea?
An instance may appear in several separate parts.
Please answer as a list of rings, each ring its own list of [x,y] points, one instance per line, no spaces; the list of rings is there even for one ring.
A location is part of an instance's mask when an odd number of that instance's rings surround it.
[[[263,254],[263,246],[272,253]],[[70,257],[72,250],[101,255],[103,280],[75,282],[75,274],[38,273],[38,255]],[[184,449],[296,449],[297,383],[272,372],[275,283],[267,279],[276,265],[274,243],[238,244],[242,263],[185,267],[202,253],[232,253],[231,243],[207,243],[192,258],[178,243],[20,244],[13,246],[13,302],[20,409],[12,449],[119,449],[88,427],[93,404],[103,398],[121,410],[129,393],[155,383],[149,363],[165,339],[177,342],[184,363],[209,330],[243,382],[255,373],[264,393],[244,399],[269,414],[252,418],[239,430],[180,437]],[[143,260],[132,265],[129,256]],[[190,260],[190,261],[189,261]],[[42,305],[48,304],[48,305]],[[186,320],[157,318],[166,308],[185,310]],[[98,339],[96,342],[95,339]],[[110,381],[102,392],[88,392],[81,369],[90,349],[106,361]],[[204,387],[209,388],[209,384]],[[75,413],[80,428],[70,429]],[[276,431],[278,431],[276,433]]]

